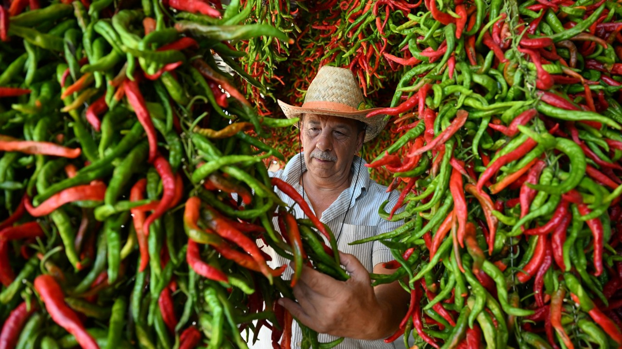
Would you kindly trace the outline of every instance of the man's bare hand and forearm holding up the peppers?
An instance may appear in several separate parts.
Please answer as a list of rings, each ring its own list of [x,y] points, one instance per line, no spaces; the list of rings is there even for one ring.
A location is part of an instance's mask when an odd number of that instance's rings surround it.
[[[340,253],[340,259],[350,279],[337,281],[304,266],[294,287],[298,302],[287,298],[279,302],[302,324],[320,333],[365,340],[388,337],[401,317],[394,319],[390,301],[376,297],[368,271],[355,256]],[[406,302],[402,306],[406,309]]]

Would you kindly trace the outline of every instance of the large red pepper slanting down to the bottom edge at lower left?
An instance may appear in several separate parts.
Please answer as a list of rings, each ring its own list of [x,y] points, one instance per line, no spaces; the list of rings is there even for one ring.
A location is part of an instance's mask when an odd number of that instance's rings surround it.
[[[47,274],[37,276],[34,286],[52,320],[71,333],[80,347],[84,349],[99,348],[93,337],[86,332],[78,315],[65,304],[63,290],[52,276]]]

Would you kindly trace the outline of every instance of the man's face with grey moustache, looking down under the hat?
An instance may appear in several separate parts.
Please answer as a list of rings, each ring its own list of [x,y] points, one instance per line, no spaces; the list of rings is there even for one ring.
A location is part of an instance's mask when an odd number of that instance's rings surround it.
[[[350,170],[363,145],[363,132],[356,120],[337,116],[305,114],[300,136],[307,170],[318,178],[330,178]]]

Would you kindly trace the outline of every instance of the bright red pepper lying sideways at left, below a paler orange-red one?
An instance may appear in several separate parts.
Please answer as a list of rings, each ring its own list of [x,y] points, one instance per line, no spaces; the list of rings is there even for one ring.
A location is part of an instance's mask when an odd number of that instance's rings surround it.
[[[104,199],[104,194],[106,194],[106,184],[98,182],[59,191],[37,207],[33,207],[30,201],[24,202],[24,205],[26,206],[26,211],[28,211],[32,217],[42,217],[44,215],[49,215],[52,211],[68,202],[102,201]]]

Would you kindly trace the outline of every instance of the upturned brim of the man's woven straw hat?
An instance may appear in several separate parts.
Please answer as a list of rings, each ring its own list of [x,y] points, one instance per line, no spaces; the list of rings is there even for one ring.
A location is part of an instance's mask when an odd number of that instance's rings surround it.
[[[370,108],[364,109],[361,111],[353,111],[353,112],[344,112],[344,111],[335,111],[332,109],[324,109],[324,108],[305,108],[305,107],[297,107],[287,104],[280,99],[277,100],[279,106],[281,107],[283,114],[287,119],[292,119],[292,117],[299,117],[300,114],[320,114],[320,115],[330,115],[330,116],[339,116],[346,117],[348,119],[358,120],[367,125],[365,132],[365,139],[363,142],[369,142],[373,138],[375,138],[387,124],[387,121],[384,120],[384,114],[379,114],[373,117],[366,117],[369,112],[377,111],[383,108]]]

